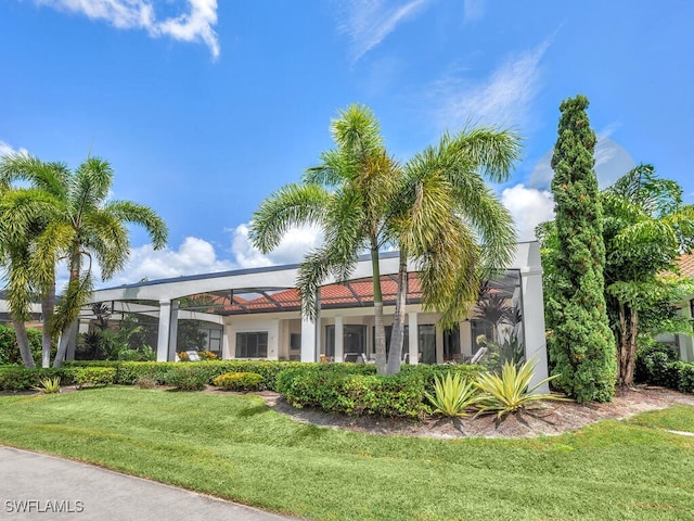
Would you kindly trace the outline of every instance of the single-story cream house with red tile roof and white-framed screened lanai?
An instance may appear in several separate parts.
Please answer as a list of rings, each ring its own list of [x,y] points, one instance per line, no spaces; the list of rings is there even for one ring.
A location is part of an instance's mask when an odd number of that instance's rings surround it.
[[[104,303],[115,315],[141,313],[158,318],[156,359],[174,360],[180,320],[208,325],[207,347],[222,359],[358,361],[374,357],[371,260],[363,257],[346,283],[327,280],[320,290],[316,321],[301,316],[296,291],[298,265],[152,280],[94,291],[80,321],[95,317],[91,304]],[[479,338],[500,340],[510,326],[493,323],[471,312],[458,328],[445,331],[438,315],[424,313],[414,267],[410,267],[406,306],[403,359],[409,364],[442,364],[473,355]],[[386,328],[395,310],[397,252],[381,255]],[[526,358],[537,361],[536,380],[547,377],[547,348],[539,243],[518,243],[514,262],[488,282],[488,295],[517,317],[514,330]],[[191,296],[197,295],[197,298]],[[203,305],[181,305],[200,303]],[[505,330],[504,330],[505,328]],[[504,333],[505,331],[505,333]],[[386,331],[387,333],[387,331]],[[69,358],[69,353],[68,353]]]

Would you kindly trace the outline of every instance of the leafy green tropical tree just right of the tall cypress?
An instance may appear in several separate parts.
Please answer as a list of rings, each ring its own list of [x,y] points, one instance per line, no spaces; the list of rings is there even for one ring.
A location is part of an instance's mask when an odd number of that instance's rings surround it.
[[[694,246],[694,206],[682,203],[682,188],[676,181],[659,178],[653,166],[643,164],[604,190],[602,201],[617,382],[631,385],[643,326],[652,335],[667,329],[692,332],[691,322],[674,319],[669,303],[694,292],[691,280],[674,275],[677,257]]]

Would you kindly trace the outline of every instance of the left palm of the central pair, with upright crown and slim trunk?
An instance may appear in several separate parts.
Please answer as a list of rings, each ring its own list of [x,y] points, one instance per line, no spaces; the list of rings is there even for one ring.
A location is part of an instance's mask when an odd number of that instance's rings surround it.
[[[349,279],[359,254],[373,267],[376,369],[385,372],[386,341],[378,252],[388,241],[386,212],[397,190],[398,164],[384,148],[378,122],[363,105],[349,105],[331,125],[335,149],[321,154],[303,183],[288,185],[264,201],[250,223],[250,240],[261,252],[278,246],[294,226],[319,225],[322,246],[301,263],[298,290],[303,313],[314,318],[316,295],[329,276]]]

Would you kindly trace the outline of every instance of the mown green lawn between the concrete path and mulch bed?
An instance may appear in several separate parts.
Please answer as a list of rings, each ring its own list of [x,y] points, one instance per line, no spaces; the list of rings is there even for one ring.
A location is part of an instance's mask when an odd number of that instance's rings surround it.
[[[694,408],[561,436],[437,441],[300,424],[255,396],[0,396],[0,443],[321,520],[689,520],[694,439],[663,425],[694,431]]]

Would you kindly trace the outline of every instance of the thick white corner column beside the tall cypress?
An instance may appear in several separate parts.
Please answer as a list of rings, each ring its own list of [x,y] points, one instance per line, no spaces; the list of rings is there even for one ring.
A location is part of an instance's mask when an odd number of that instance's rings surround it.
[[[539,263],[538,263],[539,264]],[[531,267],[520,270],[523,322],[525,331],[525,357],[534,360],[535,373],[530,387],[548,377],[547,343],[544,340],[544,306],[542,295],[542,268]],[[549,393],[544,383],[538,393]]]

